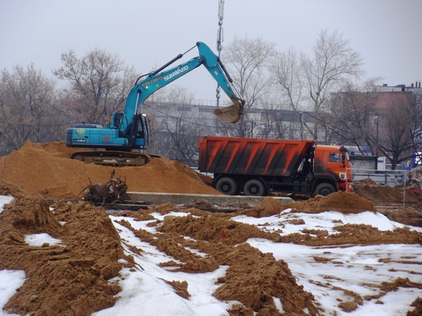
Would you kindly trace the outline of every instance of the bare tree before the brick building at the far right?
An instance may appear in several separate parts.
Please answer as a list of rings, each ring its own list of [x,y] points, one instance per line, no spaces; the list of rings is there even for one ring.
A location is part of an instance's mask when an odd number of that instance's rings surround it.
[[[374,79],[377,81],[378,79]],[[422,98],[411,92],[391,95],[376,90],[374,81],[364,86],[348,84],[335,93],[326,124],[340,143],[371,148],[397,165],[414,158],[422,134]]]

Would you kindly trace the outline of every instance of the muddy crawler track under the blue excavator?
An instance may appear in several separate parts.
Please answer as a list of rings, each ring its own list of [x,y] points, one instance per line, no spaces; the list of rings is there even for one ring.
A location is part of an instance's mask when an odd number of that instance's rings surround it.
[[[142,152],[120,152],[120,151],[93,151],[75,152],[71,159],[85,162],[86,164],[99,164],[101,166],[143,166],[154,158],[160,158],[159,154],[146,154]]]

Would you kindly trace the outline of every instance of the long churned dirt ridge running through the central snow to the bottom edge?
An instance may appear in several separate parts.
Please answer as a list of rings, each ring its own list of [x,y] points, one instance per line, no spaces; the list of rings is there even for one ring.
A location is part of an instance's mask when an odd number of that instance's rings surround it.
[[[125,215],[138,219],[148,218],[148,212],[170,208],[172,211],[179,211],[174,206],[165,204],[157,209],[139,211],[141,215],[129,212]],[[272,254],[264,254],[244,243],[252,237],[278,241],[279,234],[262,232],[255,226],[237,223],[227,214],[210,215],[193,209],[183,211],[192,211],[196,215],[165,216],[155,234],[135,230],[126,220],[120,220],[119,223],[132,230],[144,242],[153,244],[179,261],[160,264],[171,266],[175,268],[174,271],[210,272],[220,265],[229,265],[226,275],[218,279],[220,287],[213,295],[222,301],[243,303],[234,305],[229,310],[231,315],[253,315],[254,312],[257,315],[279,315],[273,298],[281,300],[283,310],[289,315],[320,315],[321,310],[318,303],[314,302],[314,296],[296,283],[285,261],[277,261]],[[200,256],[188,249],[198,249],[206,256]],[[305,313],[304,310],[308,312]]]

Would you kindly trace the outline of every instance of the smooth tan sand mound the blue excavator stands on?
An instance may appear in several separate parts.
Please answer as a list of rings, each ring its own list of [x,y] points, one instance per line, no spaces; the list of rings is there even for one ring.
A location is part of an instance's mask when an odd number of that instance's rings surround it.
[[[75,199],[89,180],[93,184],[110,180],[112,167],[70,159],[76,151],[64,143],[25,143],[0,158],[0,180],[51,199]],[[128,191],[221,194],[210,187],[209,177],[166,158],[155,158],[145,166],[118,168],[116,176],[126,179]]]

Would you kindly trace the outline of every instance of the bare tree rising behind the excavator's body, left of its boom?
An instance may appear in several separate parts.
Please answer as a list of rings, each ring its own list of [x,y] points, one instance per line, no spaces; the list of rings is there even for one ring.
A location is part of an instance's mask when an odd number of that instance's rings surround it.
[[[133,67],[124,67],[117,55],[98,48],[80,59],[74,51],[63,53],[61,61],[62,67],[53,73],[70,83],[62,103],[74,121],[106,124],[108,115],[122,110],[136,80]]]

